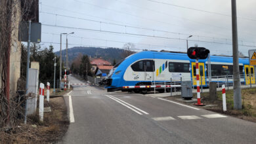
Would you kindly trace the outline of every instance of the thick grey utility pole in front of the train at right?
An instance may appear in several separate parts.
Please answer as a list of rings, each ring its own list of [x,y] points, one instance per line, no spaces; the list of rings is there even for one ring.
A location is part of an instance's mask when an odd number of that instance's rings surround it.
[[[232,5],[232,44],[233,44],[233,75],[234,75],[234,109],[242,109],[242,94],[238,60],[238,26],[236,17],[236,0],[231,0]]]

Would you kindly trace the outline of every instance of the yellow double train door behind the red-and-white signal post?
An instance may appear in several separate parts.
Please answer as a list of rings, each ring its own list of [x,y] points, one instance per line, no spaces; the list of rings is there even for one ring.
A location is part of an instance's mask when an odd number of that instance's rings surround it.
[[[198,69],[199,69],[200,85],[201,84],[205,85],[204,63],[198,63]],[[193,79],[193,85],[196,85],[196,63],[195,62],[192,62],[192,79]]]

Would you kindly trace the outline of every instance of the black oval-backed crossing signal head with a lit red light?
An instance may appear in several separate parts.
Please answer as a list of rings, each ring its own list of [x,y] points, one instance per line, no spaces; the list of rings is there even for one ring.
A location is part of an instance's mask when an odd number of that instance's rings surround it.
[[[203,47],[191,47],[188,48],[188,57],[191,59],[206,59],[209,54],[209,50]]]

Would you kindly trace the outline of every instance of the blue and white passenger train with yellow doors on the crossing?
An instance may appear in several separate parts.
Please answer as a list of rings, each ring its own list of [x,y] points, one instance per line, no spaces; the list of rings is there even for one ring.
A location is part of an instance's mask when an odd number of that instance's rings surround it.
[[[207,79],[208,60],[199,60],[200,84],[208,86]],[[255,83],[254,67],[249,65],[248,58],[239,58],[241,82],[249,84],[249,73],[251,83]],[[226,81],[215,79],[215,76],[233,74],[233,58],[228,56],[211,56],[211,81]],[[153,83],[169,81],[195,80],[196,63],[188,58],[186,53],[181,52],[137,52],[121,62],[117,63],[110,71],[106,79],[105,88],[108,92],[123,90],[123,86],[151,85]],[[201,80],[202,78],[202,80]],[[232,80],[230,80],[232,81]],[[196,81],[193,81],[196,85]],[[139,89],[133,89],[139,92]]]

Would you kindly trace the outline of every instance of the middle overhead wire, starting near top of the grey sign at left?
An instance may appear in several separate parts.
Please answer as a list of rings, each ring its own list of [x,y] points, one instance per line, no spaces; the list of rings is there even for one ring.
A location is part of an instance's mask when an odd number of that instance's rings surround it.
[[[127,33],[127,32],[118,32],[118,31],[106,31],[106,30],[98,30],[98,29],[89,29],[89,28],[81,28],[81,27],[69,27],[69,26],[54,26],[51,24],[42,24],[43,26],[51,26],[51,27],[62,27],[62,28],[67,28],[67,29],[79,29],[79,30],[85,30],[85,31],[99,31],[99,32],[104,32],[104,33],[113,33],[113,34],[122,34],[122,35],[135,35],[135,36],[141,36],[141,37],[152,37],[152,38],[160,38],[160,39],[173,39],[173,40],[181,40],[181,41],[187,41],[186,39],[181,39],[181,38],[175,38],[175,37],[163,37],[163,36],[156,36],[156,35],[144,35],[144,34],[137,34],[137,33]],[[199,41],[199,40],[193,40],[190,39],[188,41],[194,41],[194,42],[200,42],[200,43],[215,43],[215,44],[220,44],[220,45],[232,45],[232,43],[220,43],[220,42],[215,42],[215,41]],[[247,47],[256,47],[252,45],[240,45],[240,46],[247,46]]]

